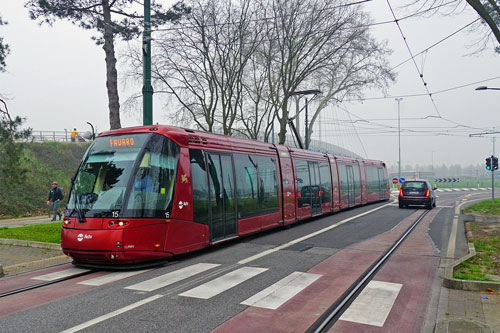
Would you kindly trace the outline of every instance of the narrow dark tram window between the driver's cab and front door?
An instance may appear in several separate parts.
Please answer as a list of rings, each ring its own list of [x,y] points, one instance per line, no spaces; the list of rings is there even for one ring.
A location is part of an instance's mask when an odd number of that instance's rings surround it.
[[[205,155],[199,149],[190,149],[189,160],[193,184],[193,218],[195,222],[208,224],[209,200]]]

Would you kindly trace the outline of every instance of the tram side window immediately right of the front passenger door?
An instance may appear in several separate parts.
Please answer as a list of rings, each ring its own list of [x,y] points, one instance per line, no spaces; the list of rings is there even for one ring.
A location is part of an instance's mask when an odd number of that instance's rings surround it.
[[[236,188],[238,195],[238,218],[259,214],[259,191],[257,161],[255,156],[234,154]]]

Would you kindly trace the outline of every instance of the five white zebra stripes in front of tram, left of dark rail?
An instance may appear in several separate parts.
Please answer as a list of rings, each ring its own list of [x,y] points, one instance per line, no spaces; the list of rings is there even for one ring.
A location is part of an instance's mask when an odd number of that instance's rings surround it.
[[[154,278],[147,279],[139,283],[125,286],[124,289],[140,292],[151,292],[160,288],[167,287],[171,284],[181,282],[188,278],[196,277],[203,273],[208,273],[210,270],[213,270],[220,266],[220,264],[213,263],[198,263],[177,269],[166,274],[162,274]],[[178,294],[178,296],[207,300],[223,292],[226,292],[268,270],[269,268],[264,267],[243,266],[229,271],[224,275],[215,277],[214,279],[199,286],[181,292]],[[69,268],[54,273],[35,276],[31,279],[53,281],[63,277],[78,275],[87,271],[89,270],[82,268]],[[128,272],[107,272],[106,274],[98,277],[79,281],[77,282],[77,284],[99,287],[119,280],[124,280],[132,276],[140,275],[148,271],[150,270],[147,269]],[[293,272],[288,276],[282,278],[281,280],[275,282],[274,284],[257,292],[255,295],[250,296],[240,304],[276,310],[282,304],[292,299],[302,290],[306,289],[308,286],[318,280],[321,276],[322,275],[320,274]]]

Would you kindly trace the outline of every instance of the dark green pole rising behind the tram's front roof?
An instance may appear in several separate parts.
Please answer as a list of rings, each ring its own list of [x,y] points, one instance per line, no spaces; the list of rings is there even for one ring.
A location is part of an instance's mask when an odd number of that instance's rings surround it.
[[[153,124],[153,87],[151,86],[151,0],[144,0],[144,32],[142,36],[143,86],[142,124]]]

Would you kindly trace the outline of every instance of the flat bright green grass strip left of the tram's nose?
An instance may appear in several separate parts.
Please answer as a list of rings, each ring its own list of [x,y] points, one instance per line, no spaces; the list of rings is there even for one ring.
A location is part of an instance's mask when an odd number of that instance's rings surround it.
[[[0,228],[0,238],[44,243],[61,243],[61,222],[30,225],[19,228]]]

